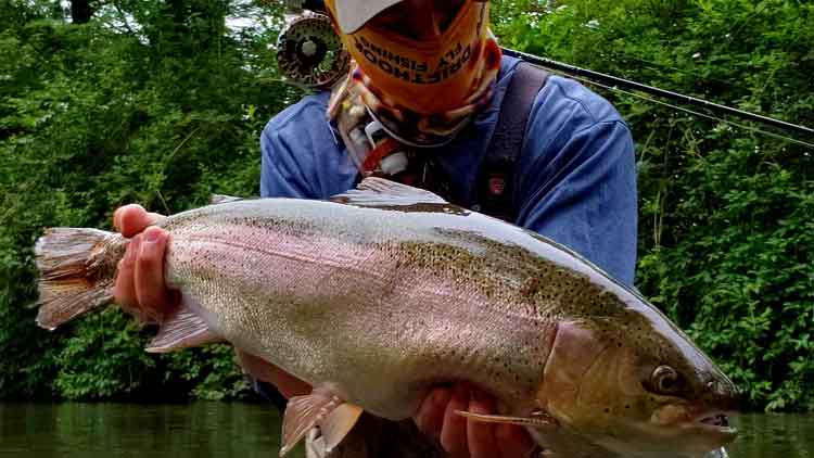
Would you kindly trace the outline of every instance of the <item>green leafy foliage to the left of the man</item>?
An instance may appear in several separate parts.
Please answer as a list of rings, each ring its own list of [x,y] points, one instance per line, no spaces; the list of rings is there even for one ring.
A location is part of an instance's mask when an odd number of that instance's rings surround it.
[[[147,355],[151,332],[115,309],[49,333],[25,305],[46,227],[109,228],[129,202],[175,213],[257,193],[259,131],[298,92],[276,77],[276,30],[225,21],[279,7],[99,2],[76,26],[49,3],[0,8],[0,396],[243,396],[229,347]]]

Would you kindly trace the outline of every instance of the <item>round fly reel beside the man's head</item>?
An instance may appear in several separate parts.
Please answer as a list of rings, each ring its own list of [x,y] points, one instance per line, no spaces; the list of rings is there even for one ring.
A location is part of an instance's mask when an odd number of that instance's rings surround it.
[[[294,84],[328,89],[347,75],[351,55],[327,15],[306,12],[294,17],[280,34],[277,65]]]

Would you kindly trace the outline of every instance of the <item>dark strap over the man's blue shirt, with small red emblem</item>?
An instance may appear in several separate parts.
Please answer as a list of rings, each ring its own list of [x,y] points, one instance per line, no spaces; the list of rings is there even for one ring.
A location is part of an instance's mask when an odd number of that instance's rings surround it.
[[[548,75],[545,69],[525,62],[516,67],[500,104],[495,132],[481,164],[471,205],[473,211],[511,222],[517,219],[514,171],[523,148],[529,115]]]

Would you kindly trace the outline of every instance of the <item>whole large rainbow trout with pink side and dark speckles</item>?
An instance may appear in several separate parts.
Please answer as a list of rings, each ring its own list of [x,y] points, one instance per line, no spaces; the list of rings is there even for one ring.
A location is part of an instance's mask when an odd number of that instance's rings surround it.
[[[691,457],[730,442],[737,390],[656,307],[531,231],[381,179],[331,202],[236,201],[163,220],[181,291],[150,352],[227,341],[315,386],[283,448],[314,427],[335,447],[364,411],[412,416],[468,381],[499,415],[572,457]],[[107,304],[128,240],[49,230],[38,323]]]

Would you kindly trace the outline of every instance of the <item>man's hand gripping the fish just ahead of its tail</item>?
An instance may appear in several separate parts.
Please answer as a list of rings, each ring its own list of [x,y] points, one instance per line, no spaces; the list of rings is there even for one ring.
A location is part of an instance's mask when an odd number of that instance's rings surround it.
[[[164,250],[167,233],[152,225],[164,216],[141,205],[125,205],[113,214],[113,226],[130,238],[118,263],[113,295],[118,305],[137,316],[157,319],[178,305],[180,295],[164,284]]]

